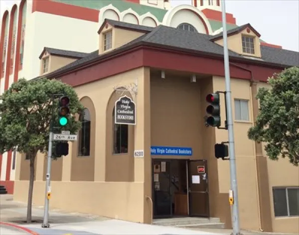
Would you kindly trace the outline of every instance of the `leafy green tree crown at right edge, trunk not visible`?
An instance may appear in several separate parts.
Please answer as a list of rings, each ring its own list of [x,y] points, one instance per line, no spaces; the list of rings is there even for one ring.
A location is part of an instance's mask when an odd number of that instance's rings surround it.
[[[260,88],[260,113],[248,137],[265,142],[272,160],[288,157],[299,163],[299,67],[285,69],[268,79],[271,89]]]

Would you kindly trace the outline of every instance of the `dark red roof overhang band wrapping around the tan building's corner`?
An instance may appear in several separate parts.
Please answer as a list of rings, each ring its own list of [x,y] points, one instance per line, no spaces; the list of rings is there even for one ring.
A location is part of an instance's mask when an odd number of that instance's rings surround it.
[[[57,73],[52,72],[45,77],[56,78],[76,87],[139,67],[224,77],[224,61],[221,55],[194,53],[194,51],[185,49],[174,50],[171,47],[141,42],[131,46],[131,48],[124,48],[122,51],[115,50],[104,54],[78,67]],[[230,76],[232,78],[266,82],[268,77],[281,72],[286,67],[291,66],[243,58],[230,58]]]

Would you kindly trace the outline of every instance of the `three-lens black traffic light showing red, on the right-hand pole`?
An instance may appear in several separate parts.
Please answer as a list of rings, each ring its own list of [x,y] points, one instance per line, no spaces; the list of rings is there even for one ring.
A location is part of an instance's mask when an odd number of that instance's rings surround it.
[[[220,126],[220,96],[219,93],[209,94],[206,97],[206,101],[209,105],[206,108],[206,112],[209,117],[206,119],[206,123],[210,126]]]

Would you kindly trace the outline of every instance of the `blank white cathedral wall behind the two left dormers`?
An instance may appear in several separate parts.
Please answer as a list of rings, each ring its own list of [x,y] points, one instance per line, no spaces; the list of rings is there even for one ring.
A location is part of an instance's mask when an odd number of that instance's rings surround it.
[[[44,47],[92,52],[98,49],[98,23],[33,12],[27,18],[22,76],[39,76],[39,55]]]

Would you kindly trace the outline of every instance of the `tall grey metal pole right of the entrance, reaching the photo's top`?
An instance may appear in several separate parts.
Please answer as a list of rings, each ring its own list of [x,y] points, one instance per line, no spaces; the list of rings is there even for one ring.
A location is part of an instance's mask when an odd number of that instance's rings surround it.
[[[233,225],[232,235],[240,235],[241,233],[240,233],[240,225],[239,225],[237,169],[236,169],[233,113],[232,113],[232,100],[231,100],[232,92],[231,92],[231,84],[230,84],[229,59],[228,59],[228,49],[227,49],[225,0],[221,0],[221,7],[222,7],[225,90],[226,90],[226,103],[227,103],[227,127],[228,127],[228,143],[229,143],[229,160],[230,160],[229,162],[230,162],[230,179],[231,179],[230,202],[232,208],[232,225]]]

